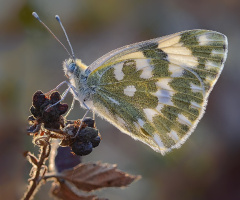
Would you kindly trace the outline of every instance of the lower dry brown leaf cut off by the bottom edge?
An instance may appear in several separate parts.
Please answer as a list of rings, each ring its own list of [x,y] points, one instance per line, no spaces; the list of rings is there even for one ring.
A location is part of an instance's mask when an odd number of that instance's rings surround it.
[[[99,199],[97,196],[89,195],[80,191],[74,191],[66,181],[55,181],[52,183],[51,194],[61,200],[107,200]]]

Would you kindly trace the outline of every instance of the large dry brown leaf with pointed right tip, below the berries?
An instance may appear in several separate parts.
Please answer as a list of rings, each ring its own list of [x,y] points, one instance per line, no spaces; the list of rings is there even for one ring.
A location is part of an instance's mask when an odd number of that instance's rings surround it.
[[[67,180],[78,189],[87,192],[104,187],[124,187],[140,178],[118,170],[116,165],[100,162],[79,164],[55,177]]]

